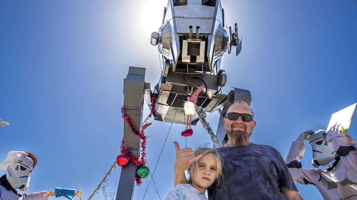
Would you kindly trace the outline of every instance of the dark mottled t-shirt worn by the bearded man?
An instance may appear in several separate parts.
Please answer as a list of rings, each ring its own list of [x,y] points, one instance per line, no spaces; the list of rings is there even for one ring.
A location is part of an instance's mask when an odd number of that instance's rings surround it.
[[[296,186],[280,153],[273,147],[251,143],[248,147],[216,149],[223,161],[224,187],[208,188],[208,199],[286,199],[282,187]],[[222,191],[219,191],[222,190]]]

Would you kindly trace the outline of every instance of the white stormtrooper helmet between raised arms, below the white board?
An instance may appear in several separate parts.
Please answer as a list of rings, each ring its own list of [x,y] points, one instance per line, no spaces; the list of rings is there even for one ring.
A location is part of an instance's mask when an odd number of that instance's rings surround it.
[[[335,159],[336,151],[332,147],[331,142],[324,140],[326,135],[325,130],[318,130],[312,133],[309,137],[309,144],[312,147],[312,166],[326,166],[333,159]]]

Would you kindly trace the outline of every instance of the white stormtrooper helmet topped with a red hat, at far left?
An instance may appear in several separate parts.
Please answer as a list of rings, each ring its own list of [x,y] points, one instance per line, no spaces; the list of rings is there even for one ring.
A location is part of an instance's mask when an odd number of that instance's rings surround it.
[[[36,157],[29,152],[11,151],[0,168],[6,171],[6,179],[12,188],[25,191],[30,186],[30,173],[36,162]]]

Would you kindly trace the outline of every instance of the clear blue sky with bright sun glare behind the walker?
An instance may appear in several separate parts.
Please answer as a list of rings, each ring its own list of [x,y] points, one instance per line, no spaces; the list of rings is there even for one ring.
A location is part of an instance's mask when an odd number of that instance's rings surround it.
[[[9,151],[38,159],[29,192],[55,187],[92,193],[120,149],[123,79],[129,66],[145,67],[153,87],[160,74],[150,34],[162,22],[167,1],[1,1],[0,160]],[[248,89],[257,125],[251,141],[286,157],[306,130],[326,128],[331,114],[357,102],[356,1],[228,1],[228,25],[238,23],[242,52],[223,56],[230,86]],[[149,114],[145,106],[144,116]],[[216,130],[218,114],[207,120]],[[146,130],[154,168],[170,123]],[[183,125],[172,125],[154,180],[162,198],[172,189],[174,145],[185,146]],[[198,124],[187,138],[196,148],[210,143]],[[349,134],[357,138],[357,120]],[[306,145],[303,167],[312,168]],[[116,192],[120,167],[109,177]],[[149,178],[135,188],[142,199]],[[304,199],[322,199],[312,185],[296,184]],[[150,184],[145,199],[158,199]],[[98,194],[94,199],[104,199]]]

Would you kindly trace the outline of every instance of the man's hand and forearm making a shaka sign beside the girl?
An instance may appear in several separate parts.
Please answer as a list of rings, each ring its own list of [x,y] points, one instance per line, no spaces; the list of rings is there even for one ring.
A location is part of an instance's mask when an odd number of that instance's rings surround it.
[[[202,155],[195,157],[195,152],[191,148],[180,149],[177,142],[174,142],[176,149],[176,159],[174,165],[175,180],[174,186],[177,184],[187,183],[185,170],[188,169],[192,163],[202,158]]]

